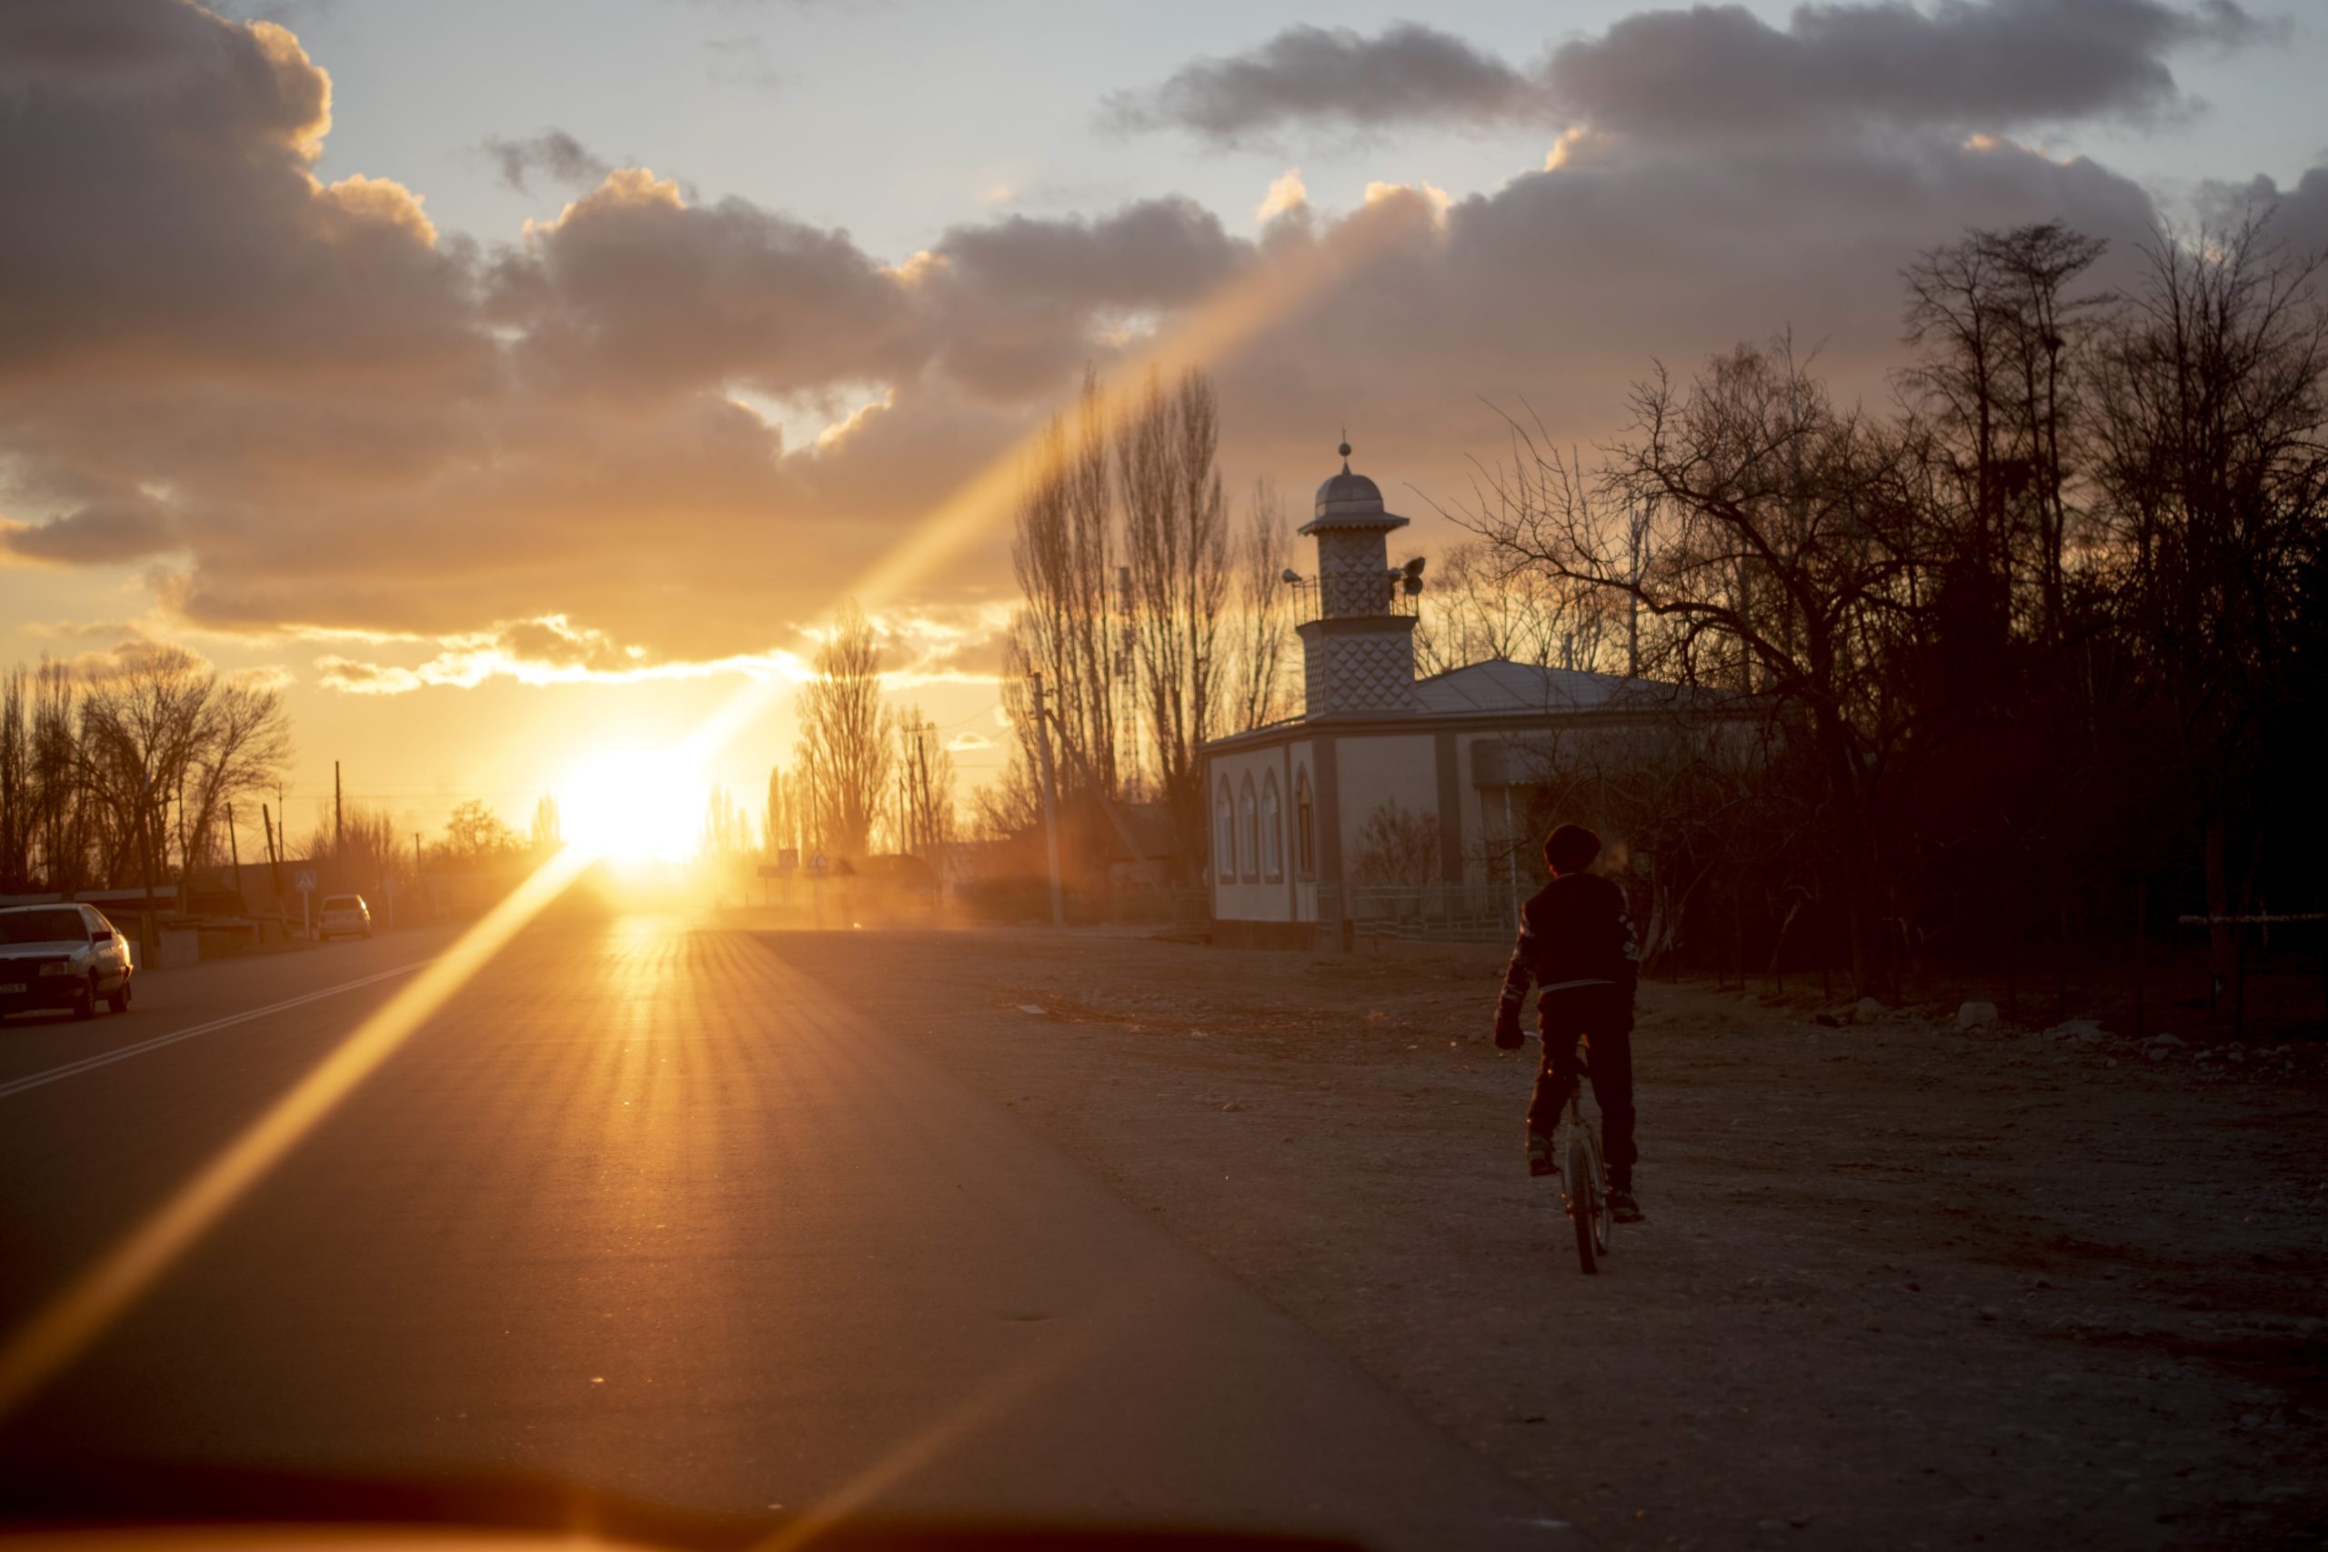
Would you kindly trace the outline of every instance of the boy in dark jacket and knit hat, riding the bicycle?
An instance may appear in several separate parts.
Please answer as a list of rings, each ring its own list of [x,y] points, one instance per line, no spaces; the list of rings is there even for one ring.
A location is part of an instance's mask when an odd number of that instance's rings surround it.
[[[1602,1145],[1609,1154],[1609,1212],[1620,1224],[1641,1222],[1632,1194],[1632,994],[1641,980],[1641,952],[1625,914],[1625,891],[1585,873],[1599,856],[1599,835],[1581,824],[1562,824],[1543,840],[1553,873],[1520,907],[1520,942],[1504,970],[1504,996],[1495,1005],[1495,1042],[1523,1045],[1520,1008],[1527,982],[1543,987],[1536,1028],[1543,1031],[1543,1068],[1527,1105],[1527,1173],[1553,1173],[1553,1129],[1576,1087],[1576,1042],[1592,1054],[1592,1098],[1602,1108]]]

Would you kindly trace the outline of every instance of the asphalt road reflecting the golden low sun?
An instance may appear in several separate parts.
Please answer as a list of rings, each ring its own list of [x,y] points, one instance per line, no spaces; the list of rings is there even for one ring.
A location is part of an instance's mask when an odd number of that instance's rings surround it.
[[[0,1331],[442,945],[203,966],[126,1017],[0,1026]],[[0,1454],[1576,1545],[789,952],[538,924],[0,1419]]]

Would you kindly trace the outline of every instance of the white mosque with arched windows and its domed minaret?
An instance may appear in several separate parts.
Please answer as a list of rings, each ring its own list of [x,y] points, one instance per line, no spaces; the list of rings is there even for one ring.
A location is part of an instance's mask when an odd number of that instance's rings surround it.
[[[1399,891],[1509,919],[1539,873],[1525,828],[1553,740],[1669,707],[1669,686],[1504,658],[1415,679],[1411,575],[1387,549],[1406,519],[1341,454],[1301,526],[1318,540],[1304,712],[1204,745],[1225,945],[1327,945]]]

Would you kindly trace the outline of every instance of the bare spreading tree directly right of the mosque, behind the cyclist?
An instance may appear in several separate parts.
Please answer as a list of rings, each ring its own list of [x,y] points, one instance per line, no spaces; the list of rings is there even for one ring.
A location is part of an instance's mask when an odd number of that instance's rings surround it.
[[[1839,410],[1781,337],[1718,356],[1688,389],[1662,372],[1639,384],[1632,435],[1606,454],[1604,505],[1557,449],[1539,449],[1469,521],[1516,563],[1639,605],[1653,626],[1644,670],[1797,721],[1816,752],[1853,975],[1869,984],[1876,819],[1911,712],[1886,672],[1914,638],[1897,449]],[[1637,531],[1606,507],[1651,503],[1637,561]]]

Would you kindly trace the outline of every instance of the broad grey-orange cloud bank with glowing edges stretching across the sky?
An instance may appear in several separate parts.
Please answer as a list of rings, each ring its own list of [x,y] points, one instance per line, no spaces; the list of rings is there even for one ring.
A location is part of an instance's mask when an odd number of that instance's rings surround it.
[[[1257,235],[1148,198],[873,254],[615,168],[484,244],[324,184],[328,126],[279,28],[0,5],[0,188],[42,212],[0,221],[0,554],[142,565],[154,628],[307,642],[347,693],[789,672],[1085,363],[1222,293],[1283,305],[1213,361],[1232,489],[1327,472],[1348,423],[1385,489],[1450,496],[1497,444],[1481,398],[1590,442],[1653,356],[1783,326],[1881,393],[1918,249],[2065,219],[2123,251],[2156,216],[2002,137],[1597,130],[1469,198],[1280,179]],[[2328,175],[2284,198],[2295,230]],[[1008,596],[994,535],[892,600],[894,682],[999,672]]]

